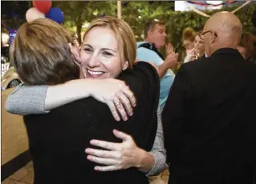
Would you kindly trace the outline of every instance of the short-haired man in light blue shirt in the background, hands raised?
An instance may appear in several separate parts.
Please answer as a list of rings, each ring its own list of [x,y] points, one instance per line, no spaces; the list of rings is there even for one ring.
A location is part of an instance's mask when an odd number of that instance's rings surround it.
[[[169,68],[177,65],[177,56],[173,52],[173,46],[166,44],[165,22],[153,20],[144,26],[144,42],[137,42],[136,59],[144,62],[152,62],[158,66],[161,77],[160,107],[165,106],[170,87],[173,84],[175,74]],[[159,49],[166,45],[167,57],[159,52]]]

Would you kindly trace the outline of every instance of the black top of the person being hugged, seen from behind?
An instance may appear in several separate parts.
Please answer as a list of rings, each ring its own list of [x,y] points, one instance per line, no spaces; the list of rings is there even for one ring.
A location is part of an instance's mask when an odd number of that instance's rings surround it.
[[[131,134],[137,146],[151,150],[156,136],[156,110],[159,100],[159,77],[146,62],[120,77],[136,96],[134,115],[127,122],[116,122],[108,106],[94,98],[69,103],[49,114],[24,116],[30,154],[35,168],[35,184],[46,183],[148,183],[136,168],[99,172],[87,160],[84,150],[92,138],[121,142],[113,129]]]

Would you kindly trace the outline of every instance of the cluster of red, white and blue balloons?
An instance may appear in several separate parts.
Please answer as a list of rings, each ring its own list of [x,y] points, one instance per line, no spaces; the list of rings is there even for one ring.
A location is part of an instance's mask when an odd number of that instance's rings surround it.
[[[59,8],[51,7],[51,1],[33,1],[33,6],[26,11],[26,21],[32,22],[37,18],[50,18],[61,24],[64,21],[63,11]]]

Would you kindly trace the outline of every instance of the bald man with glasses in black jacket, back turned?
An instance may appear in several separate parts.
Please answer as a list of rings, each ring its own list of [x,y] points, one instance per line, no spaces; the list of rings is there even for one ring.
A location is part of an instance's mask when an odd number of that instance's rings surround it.
[[[236,50],[241,34],[234,14],[213,14],[200,35],[209,57],[174,79],[162,114],[169,183],[254,183],[256,66]]]

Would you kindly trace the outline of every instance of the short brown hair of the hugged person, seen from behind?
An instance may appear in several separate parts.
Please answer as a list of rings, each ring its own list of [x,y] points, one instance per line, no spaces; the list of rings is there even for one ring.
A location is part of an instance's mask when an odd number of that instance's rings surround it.
[[[48,18],[26,22],[10,46],[10,62],[28,85],[55,85],[79,78],[69,42],[67,30]]]

